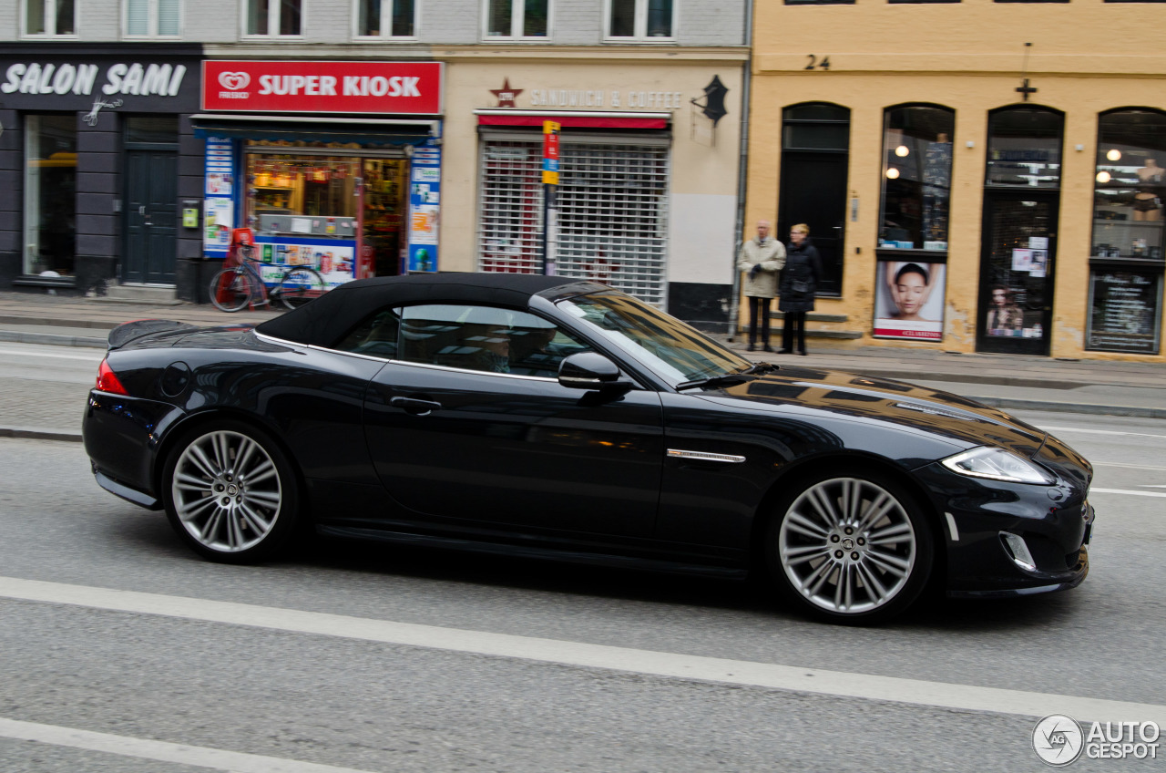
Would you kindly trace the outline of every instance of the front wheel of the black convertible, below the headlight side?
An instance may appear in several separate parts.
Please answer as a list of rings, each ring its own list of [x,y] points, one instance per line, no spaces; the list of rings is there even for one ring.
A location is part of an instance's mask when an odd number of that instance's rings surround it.
[[[871,625],[919,598],[934,564],[932,535],[922,508],[897,481],[823,472],[781,497],[766,531],[766,565],[802,612]]]

